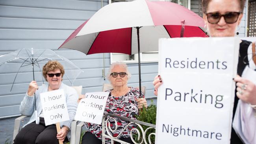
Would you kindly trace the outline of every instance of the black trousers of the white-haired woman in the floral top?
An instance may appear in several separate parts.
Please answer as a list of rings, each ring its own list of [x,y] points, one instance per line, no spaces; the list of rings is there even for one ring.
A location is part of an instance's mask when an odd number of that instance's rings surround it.
[[[120,138],[119,140],[133,144],[131,138]],[[102,141],[96,138],[93,133],[87,131],[82,137],[82,144],[102,144]],[[115,144],[120,144],[120,142],[115,142]]]

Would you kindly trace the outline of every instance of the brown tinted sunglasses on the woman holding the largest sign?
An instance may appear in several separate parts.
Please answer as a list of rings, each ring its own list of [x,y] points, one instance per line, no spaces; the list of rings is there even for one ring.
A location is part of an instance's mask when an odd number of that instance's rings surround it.
[[[221,17],[224,17],[224,20],[227,24],[234,24],[240,14],[241,12],[228,12],[224,15],[221,15],[220,13],[206,13],[206,16],[210,24],[217,24]]]

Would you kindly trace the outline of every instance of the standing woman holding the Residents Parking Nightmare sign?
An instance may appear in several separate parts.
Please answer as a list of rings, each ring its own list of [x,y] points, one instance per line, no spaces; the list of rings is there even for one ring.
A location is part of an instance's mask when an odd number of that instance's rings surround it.
[[[243,17],[244,6],[245,0],[202,0],[203,18],[209,35],[211,37],[234,37],[235,34],[238,34],[236,28],[239,26]],[[242,129],[240,130],[242,133],[238,131],[237,133],[240,134],[240,137],[245,143],[250,144],[256,143],[256,117],[254,117],[256,114],[256,85],[249,79],[241,78],[240,76],[242,76],[247,65],[249,65],[251,69],[256,69],[256,59],[253,59],[251,55],[253,52],[255,53],[255,44],[251,44],[251,42],[248,41],[240,42],[239,62],[237,67],[237,74],[239,76],[234,78],[234,81],[237,82],[237,89],[233,118],[236,108],[244,112],[239,113],[241,119],[243,119],[241,120]],[[158,87],[160,87],[162,83],[161,76],[156,76],[153,81],[155,95],[157,95]],[[238,111],[236,111],[236,113],[238,113]],[[243,144],[233,128],[230,143]]]

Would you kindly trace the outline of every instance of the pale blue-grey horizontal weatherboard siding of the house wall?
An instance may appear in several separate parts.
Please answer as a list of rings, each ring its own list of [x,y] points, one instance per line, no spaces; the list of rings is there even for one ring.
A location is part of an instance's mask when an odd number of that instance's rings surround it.
[[[108,0],[103,1],[103,6]],[[103,83],[109,83],[102,77],[103,61],[105,74],[110,65],[110,54],[85,55],[82,52],[58,47],[69,35],[101,8],[100,0],[0,0],[0,55],[20,48],[49,48],[68,58],[84,73],[80,74],[74,85],[82,85],[83,92],[102,91]],[[128,85],[137,87],[138,64],[128,64],[132,73]],[[141,65],[142,85],[147,87],[146,97],[154,97],[152,79],[158,73],[158,63]],[[15,76],[13,67],[0,72],[0,118],[19,115],[19,105],[30,83],[32,73],[22,73],[17,78],[20,92],[10,92],[10,78]],[[37,73],[35,74],[38,75]],[[39,75],[38,75],[39,76]],[[67,79],[63,82],[70,83]],[[41,85],[42,81],[38,81]]]

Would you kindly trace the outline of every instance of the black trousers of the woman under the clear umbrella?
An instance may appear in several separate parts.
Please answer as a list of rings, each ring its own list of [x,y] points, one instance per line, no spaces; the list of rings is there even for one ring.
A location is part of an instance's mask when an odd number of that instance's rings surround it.
[[[39,124],[35,122],[28,124],[20,130],[13,141],[14,144],[59,144],[56,136],[56,125],[45,126],[44,118],[40,117]]]

